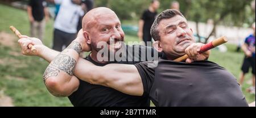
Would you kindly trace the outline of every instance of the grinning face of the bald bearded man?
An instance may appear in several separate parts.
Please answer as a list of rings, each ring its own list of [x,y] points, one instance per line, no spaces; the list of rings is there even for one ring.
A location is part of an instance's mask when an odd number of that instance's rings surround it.
[[[116,52],[121,49],[121,45],[116,44],[118,41],[123,41],[125,33],[121,28],[121,22],[117,15],[113,13],[100,15],[95,18],[94,26],[90,29],[91,47],[92,50],[98,52],[97,44],[104,41],[108,44],[108,50]],[[114,37],[115,45],[110,49],[110,37]]]

